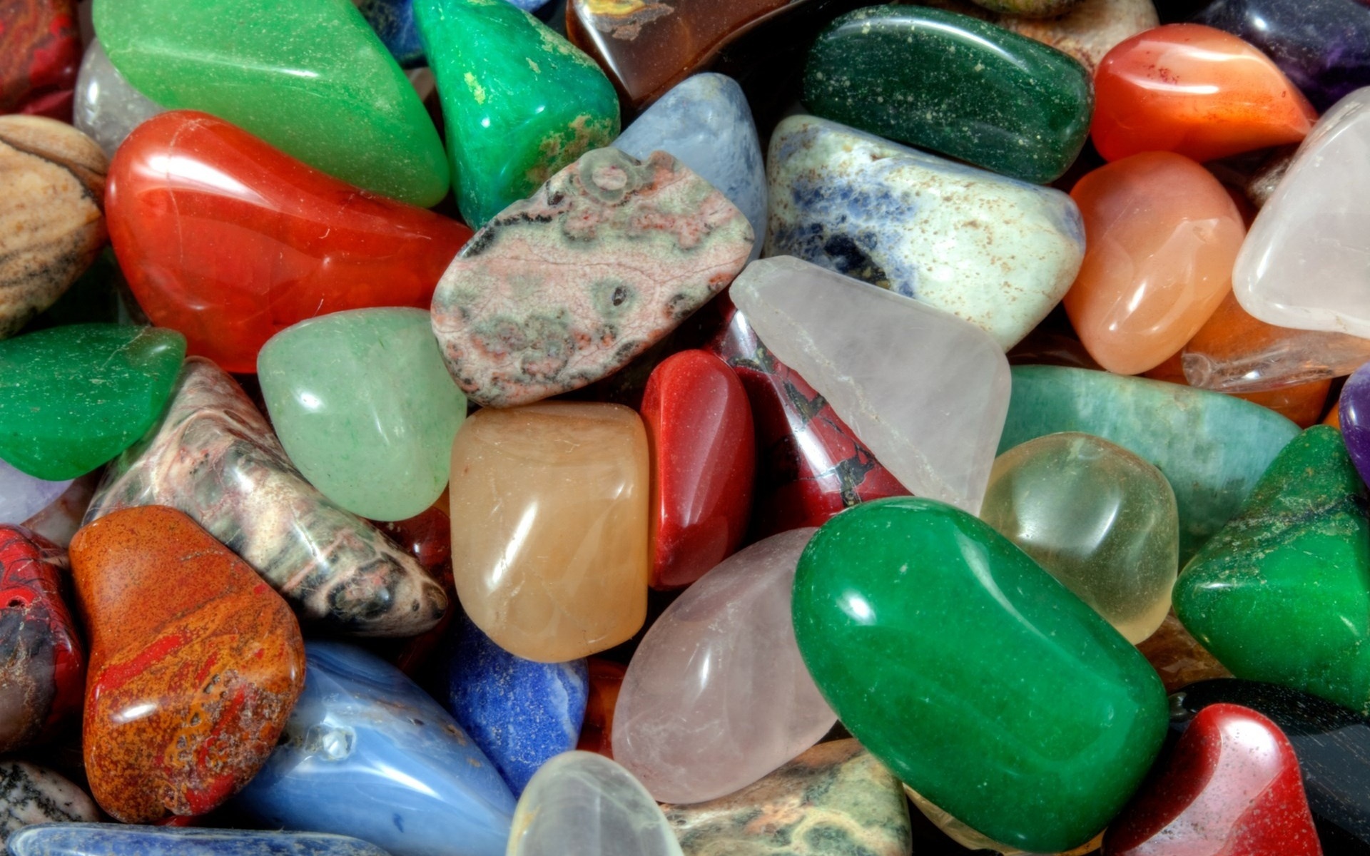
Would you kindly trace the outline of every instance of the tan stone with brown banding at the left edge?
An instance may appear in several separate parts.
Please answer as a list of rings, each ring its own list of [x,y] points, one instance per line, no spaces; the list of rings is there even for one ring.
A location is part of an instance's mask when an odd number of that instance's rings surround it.
[[[14,336],[56,303],[95,262],[105,240],[107,167],[100,147],[70,125],[0,116],[0,185],[5,188],[0,196],[0,338]]]

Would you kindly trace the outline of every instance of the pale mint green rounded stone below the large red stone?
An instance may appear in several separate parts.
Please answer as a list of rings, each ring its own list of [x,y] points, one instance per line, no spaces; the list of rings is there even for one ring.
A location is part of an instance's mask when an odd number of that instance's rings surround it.
[[[271,423],[304,478],[352,514],[403,520],[447,486],[466,396],[422,310],[353,310],[288,327],[258,355]]]

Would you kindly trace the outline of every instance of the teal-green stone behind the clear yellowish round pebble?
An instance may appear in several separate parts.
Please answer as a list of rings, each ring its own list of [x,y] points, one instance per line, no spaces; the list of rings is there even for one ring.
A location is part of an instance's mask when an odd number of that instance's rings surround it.
[[[1175,492],[1184,564],[1241,507],[1299,426],[1215,392],[1088,368],[1017,366],[999,453],[1056,431],[1103,437]]]

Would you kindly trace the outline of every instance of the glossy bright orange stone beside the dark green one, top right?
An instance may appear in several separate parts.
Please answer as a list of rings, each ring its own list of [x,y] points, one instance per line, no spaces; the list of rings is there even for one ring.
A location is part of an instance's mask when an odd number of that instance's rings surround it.
[[[1236,36],[1167,23],[1099,63],[1089,134],[1106,160],[1175,152],[1214,160],[1299,142],[1318,114],[1270,58]]]

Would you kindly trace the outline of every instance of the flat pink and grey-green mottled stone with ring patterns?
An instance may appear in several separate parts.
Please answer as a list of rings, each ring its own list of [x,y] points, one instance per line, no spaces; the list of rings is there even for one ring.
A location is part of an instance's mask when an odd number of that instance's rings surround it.
[[[743,212],[670,155],[596,149],[470,240],[433,294],[433,331],[477,404],[580,389],[726,288],[752,238]]]

